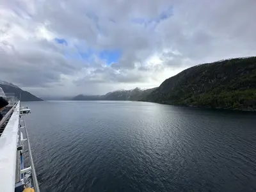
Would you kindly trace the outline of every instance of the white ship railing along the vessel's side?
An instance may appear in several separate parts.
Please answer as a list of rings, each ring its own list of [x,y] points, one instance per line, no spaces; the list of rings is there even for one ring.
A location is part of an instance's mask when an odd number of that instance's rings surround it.
[[[0,122],[0,127],[5,125],[6,120],[8,120],[8,123],[0,136],[0,192],[15,191],[15,183],[20,181],[20,173],[25,173],[29,170],[31,170],[31,176],[33,177],[33,188],[35,189],[35,192],[40,192],[29,143],[28,131],[26,129],[26,122],[23,114],[20,113],[20,101],[18,101],[6,115],[4,115]],[[19,155],[17,148],[21,145],[20,129],[23,129],[22,131],[24,131],[24,133],[26,132],[30,163],[29,168],[24,168],[23,170],[20,170],[20,164],[17,165],[17,159],[19,160],[20,158],[17,156],[17,154]]]

